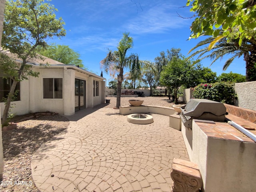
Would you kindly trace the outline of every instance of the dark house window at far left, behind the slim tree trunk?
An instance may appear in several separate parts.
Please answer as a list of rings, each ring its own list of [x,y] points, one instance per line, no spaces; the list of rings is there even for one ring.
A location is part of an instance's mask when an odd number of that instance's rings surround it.
[[[0,102],[4,102],[3,98],[8,97],[8,94],[12,86],[12,82],[13,80],[11,78],[6,79],[3,77],[0,77]],[[14,98],[14,101],[20,101],[20,82],[16,84],[14,93],[17,94],[16,97]]]

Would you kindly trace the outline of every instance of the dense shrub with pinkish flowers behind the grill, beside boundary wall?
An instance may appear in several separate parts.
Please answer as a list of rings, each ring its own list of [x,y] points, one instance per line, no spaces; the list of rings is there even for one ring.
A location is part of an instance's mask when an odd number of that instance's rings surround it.
[[[233,84],[228,82],[200,84],[194,88],[193,97],[234,104],[235,90]]]

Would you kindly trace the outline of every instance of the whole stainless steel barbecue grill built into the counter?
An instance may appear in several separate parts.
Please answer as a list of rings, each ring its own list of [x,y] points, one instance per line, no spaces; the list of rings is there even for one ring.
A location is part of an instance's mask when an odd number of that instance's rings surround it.
[[[226,107],[223,103],[207,99],[190,99],[181,107],[180,119],[185,127],[192,128],[192,120],[225,120]]]

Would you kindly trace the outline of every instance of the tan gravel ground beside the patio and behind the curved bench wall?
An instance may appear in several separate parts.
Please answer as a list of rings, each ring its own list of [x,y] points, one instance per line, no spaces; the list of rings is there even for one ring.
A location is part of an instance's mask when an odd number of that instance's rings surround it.
[[[101,104],[95,108],[115,108],[116,98],[107,99],[110,99],[110,104]],[[130,99],[144,100],[143,105],[170,107],[174,104],[168,97],[122,97],[121,105],[129,105]],[[18,121],[28,116],[31,114],[16,117],[14,120]],[[37,192],[31,176],[31,157],[43,143],[65,131],[68,125],[67,118],[56,114],[24,120],[17,123],[17,129],[2,132],[4,175],[0,186],[1,192]]]

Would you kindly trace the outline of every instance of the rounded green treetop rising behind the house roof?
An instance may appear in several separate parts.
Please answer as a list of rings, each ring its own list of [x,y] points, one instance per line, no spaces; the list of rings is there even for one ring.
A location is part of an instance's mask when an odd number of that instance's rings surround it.
[[[84,68],[82,60],[79,59],[80,54],[69,48],[67,45],[51,45],[38,53],[64,64],[71,64]]]

